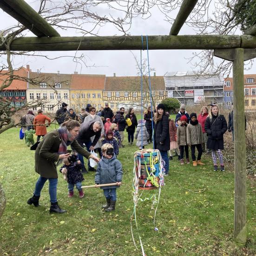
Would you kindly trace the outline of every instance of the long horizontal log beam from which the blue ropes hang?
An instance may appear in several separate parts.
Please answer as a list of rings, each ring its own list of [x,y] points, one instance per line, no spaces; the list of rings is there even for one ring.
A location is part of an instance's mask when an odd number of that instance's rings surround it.
[[[256,45],[256,37],[249,37],[247,47]],[[245,39],[244,39],[245,40]],[[238,35],[182,35],[148,36],[150,50],[168,49],[218,49],[241,47]],[[23,37],[13,41],[12,51],[76,51],[76,50],[141,50],[141,36],[122,37]],[[254,47],[256,48],[256,47]],[[144,49],[146,38],[144,36]],[[4,51],[4,45],[0,50]]]

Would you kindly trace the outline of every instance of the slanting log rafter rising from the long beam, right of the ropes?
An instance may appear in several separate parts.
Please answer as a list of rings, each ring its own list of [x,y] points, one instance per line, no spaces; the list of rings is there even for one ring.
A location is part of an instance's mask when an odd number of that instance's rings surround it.
[[[196,6],[197,1],[198,0],[183,0],[177,17],[171,26],[170,35],[176,36],[179,33],[181,27],[189,17],[191,11]]]

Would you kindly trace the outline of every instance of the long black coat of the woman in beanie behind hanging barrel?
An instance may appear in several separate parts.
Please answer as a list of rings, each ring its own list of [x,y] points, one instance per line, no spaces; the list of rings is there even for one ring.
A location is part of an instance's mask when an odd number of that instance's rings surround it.
[[[163,143],[163,144],[160,144]],[[169,118],[164,114],[162,119],[155,123],[154,127],[154,144],[155,149],[159,151],[170,150],[170,135],[169,135]]]

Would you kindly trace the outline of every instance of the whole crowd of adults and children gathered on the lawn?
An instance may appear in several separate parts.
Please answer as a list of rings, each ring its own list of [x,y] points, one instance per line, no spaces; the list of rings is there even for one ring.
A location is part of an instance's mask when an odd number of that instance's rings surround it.
[[[68,197],[73,197],[75,186],[79,197],[84,197],[81,184],[84,180],[83,173],[96,171],[95,186],[112,184],[100,186],[106,198],[103,209],[114,210],[117,200],[116,189],[122,182],[122,164],[118,160],[118,154],[119,149],[125,147],[125,130],[128,145],[132,145],[136,139],[136,145],[141,150],[153,142],[152,147],[160,151],[164,161],[164,176],[169,174],[169,161],[173,160],[174,151],[182,165],[190,164],[191,154],[195,167],[204,165],[201,161],[203,152],[211,153],[213,169],[218,170],[218,157],[220,170],[224,171],[223,134],[227,131],[228,125],[217,105],[203,106],[198,115],[189,114],[185,106],[181,106],[175,120],[170,118],[163,104],[158,104],[155,110],[148,107],[144,117],[139,120],[133,108],[129,108],[125,115],[125,108],[121,107],[114,115],[108,103],[105,103],[105,108],[98,112],[94,106],[88,104],[78,115],[74,109],[67,107],[66,103],[62,103],[62,107],[56,112],[55,119],[59,129],[48,133],[46,126],[51,124],[51,119],[43,115],[41,110],[36,117],[31,111],[25,115],[27,123],[22,129],[24,132],[31,131],[27,132],[27,145],[33,144],[31,138],[34,131],[38,136],[37,141],[43,137],[35,151],[35,171],[40,176],[35,184],[33,197],[27,201],[28,204],[39,205],[40,192],[48,179],[50,212],[66,212],[59,207],[57,201],[58,174],[55,162],[63,161],[60,172],[68,182]],[[230,127],[232,126],[229,126],[231,131]],[[72,154],[67,151],[69,145]],[[91,161],[85,164],[84,157],[92,158],[98,163],[97,168],[94,168],[96,164],[91,166]]]

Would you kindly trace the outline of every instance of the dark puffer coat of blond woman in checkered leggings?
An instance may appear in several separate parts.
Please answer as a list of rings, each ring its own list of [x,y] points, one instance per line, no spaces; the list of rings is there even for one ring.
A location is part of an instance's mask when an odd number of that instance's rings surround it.
[[[223,115],[206,118],[204,129],[207,132],[207,148],[212,150],[224,149],[223,134],[227,131],[227,121]]]

